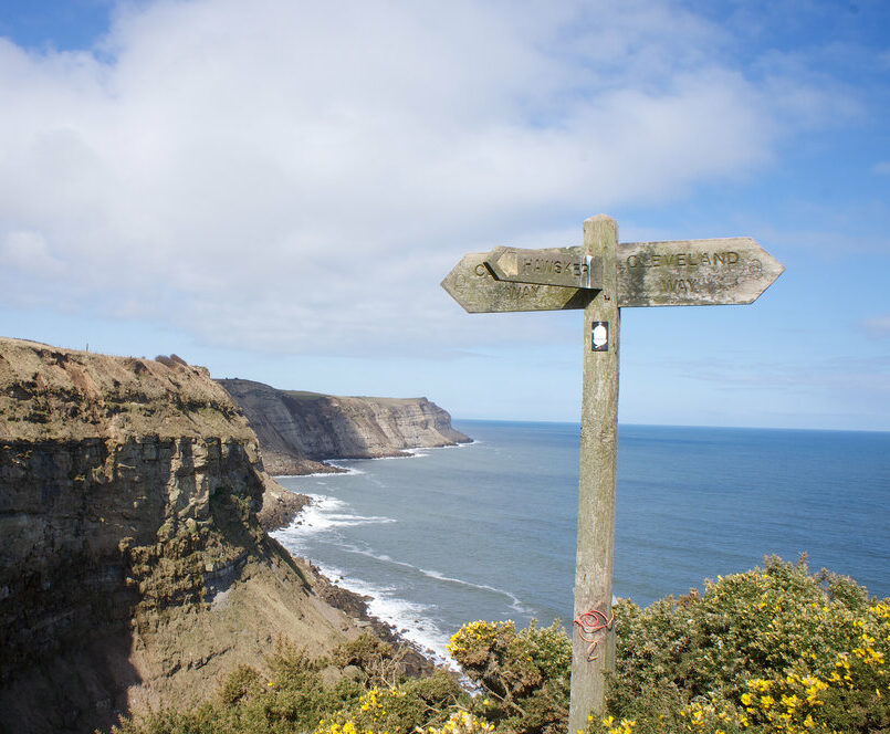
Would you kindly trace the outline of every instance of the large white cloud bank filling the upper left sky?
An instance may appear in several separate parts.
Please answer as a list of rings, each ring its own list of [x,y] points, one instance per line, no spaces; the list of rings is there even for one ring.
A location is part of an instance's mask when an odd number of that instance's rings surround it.
[[[826,104],[724,41],[570,0],[170,0],[96,53],[0,40],[0,301],[282,352],[491,339],[438,287],[462,253],[750,174]]]

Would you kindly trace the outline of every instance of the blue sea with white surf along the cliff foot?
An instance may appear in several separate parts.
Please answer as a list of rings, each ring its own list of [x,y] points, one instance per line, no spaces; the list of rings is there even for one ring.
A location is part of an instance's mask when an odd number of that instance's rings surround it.
[[[577,424],[453,424],[473,442],[279,478],[314,503],[274,533],[444,662],[465,622],[570,623],[577,525]],[[890,595],[890,433],[619,426],[615,596],[800,554]]]

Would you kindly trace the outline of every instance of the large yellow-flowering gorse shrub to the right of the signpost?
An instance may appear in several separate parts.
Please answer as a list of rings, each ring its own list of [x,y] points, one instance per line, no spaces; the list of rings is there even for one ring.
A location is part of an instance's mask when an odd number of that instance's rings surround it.
[[[593,732],[890,731],[890,607],[852,580],[767,558],[704,593],[616,608]]]

